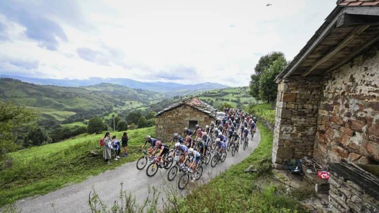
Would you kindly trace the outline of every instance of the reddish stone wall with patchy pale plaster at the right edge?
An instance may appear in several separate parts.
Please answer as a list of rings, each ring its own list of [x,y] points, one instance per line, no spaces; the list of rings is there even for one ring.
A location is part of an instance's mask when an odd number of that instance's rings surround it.
[[[325,77],[314,156],[328,162],[379,161],[379,51]]]

